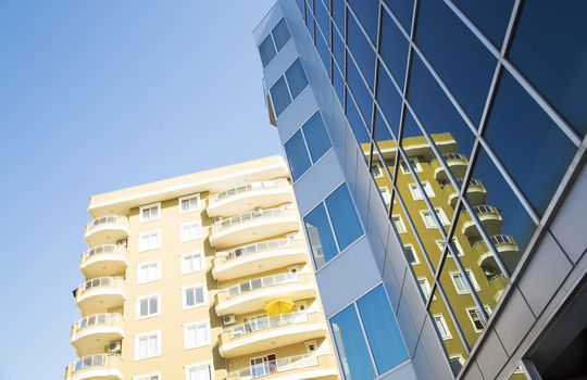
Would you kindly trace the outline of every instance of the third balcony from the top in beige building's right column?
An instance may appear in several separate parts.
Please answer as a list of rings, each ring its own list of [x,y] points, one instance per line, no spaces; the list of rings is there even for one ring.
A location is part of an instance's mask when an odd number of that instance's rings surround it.
[[[266,240],[217,253],[213,259],[212,276],[218,281],[226,281],[307,261],[303,240]]]

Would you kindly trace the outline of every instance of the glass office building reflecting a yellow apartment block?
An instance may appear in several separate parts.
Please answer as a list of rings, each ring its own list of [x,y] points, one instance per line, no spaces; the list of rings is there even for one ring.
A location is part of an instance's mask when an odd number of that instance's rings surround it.
[[[254,30],[347,379],[587,375],[585,14],[279,0]]]

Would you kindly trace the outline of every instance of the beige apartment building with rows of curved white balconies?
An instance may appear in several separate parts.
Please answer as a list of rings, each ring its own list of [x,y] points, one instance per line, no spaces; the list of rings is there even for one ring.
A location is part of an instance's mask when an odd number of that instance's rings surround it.
[[[93,195],[66,380],[338,379],[285,162]]]

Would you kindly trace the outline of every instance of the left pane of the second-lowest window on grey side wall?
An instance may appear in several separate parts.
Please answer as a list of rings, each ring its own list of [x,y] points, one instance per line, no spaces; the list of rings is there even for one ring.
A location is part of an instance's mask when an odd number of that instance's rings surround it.
[[[316,268],[321,268],[338,253],[324,204],[312,210],[303,223]]]

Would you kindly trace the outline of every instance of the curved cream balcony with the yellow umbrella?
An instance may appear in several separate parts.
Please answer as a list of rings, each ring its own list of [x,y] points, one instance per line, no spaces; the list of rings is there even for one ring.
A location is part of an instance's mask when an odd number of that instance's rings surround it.
[[[326,325],[320,313],[287,313],[255,318],[232,326],[220,339],[220,353],[230,358],[326,337]]]

